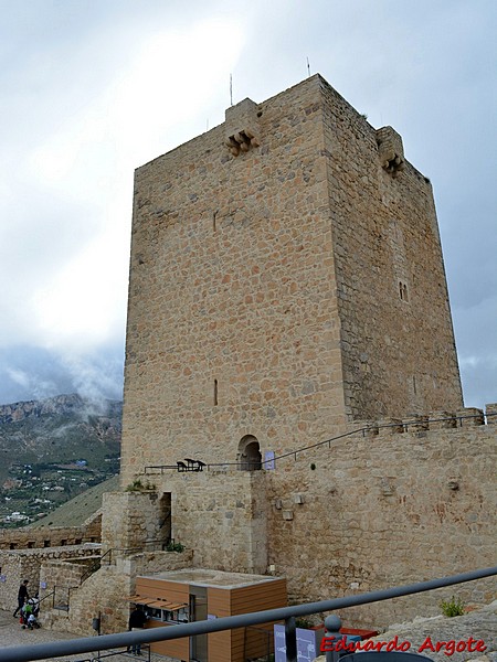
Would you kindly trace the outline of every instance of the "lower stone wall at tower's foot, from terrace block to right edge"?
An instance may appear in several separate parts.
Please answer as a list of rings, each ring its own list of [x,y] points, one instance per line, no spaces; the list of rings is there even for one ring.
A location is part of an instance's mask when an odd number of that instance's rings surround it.
[[[172,535],[193,549],[197,567],[284,576],[295,601],[363,592],[493,565],[496,413],[489,405],[486,417],[461,409],[356,421],[274,469],[241,471],[215,458],[203,471],[150,469],[144,478],[172,494]],[[126,519],[126,493],[108,498]],[[495,589],[486,579],[457,595],[489,601]],[[445,594],[343,616],[382,627],[437,613]]]

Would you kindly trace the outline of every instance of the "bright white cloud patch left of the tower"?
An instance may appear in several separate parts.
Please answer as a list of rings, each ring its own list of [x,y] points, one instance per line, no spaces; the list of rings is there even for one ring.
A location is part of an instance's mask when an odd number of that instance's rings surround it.
[[[15,332],[18,342],[81,350],[123,334],[134,169],[175,145],[179,122],[189,130],[197,104],[216,103],[215,90],[228,87],[242,46],[234,19],[156,30],[135,41],[127,68],[115,71],[105,90],[77,111],[70,90],[68,111],[57,108],[60,122],[45,122],[45,134],[25,146],[22,182],[10,178],[14,192],[43,191],[47,209],[32,209],[22,199],[18,209],[24,218],[23,246],[9,248],[9,254],[17,265],[25,258],[30,264],[10,291],[12,309],[22,297],[23,311],[11,316],[3,342]],[[54,94],[62,103],[61,90]],[[9,210],[13,199],[4,201]],[[51,205],[73,213],[51,218]],[[67,235],[80,235],[81,242],[67,242]],[[11,274],[11,261],[4,265]]]

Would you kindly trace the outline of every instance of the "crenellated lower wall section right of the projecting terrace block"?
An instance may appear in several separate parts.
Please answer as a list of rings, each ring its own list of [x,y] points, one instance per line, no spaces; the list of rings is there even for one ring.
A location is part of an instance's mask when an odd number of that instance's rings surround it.
[[[398,421],[277,461],[266,472],[269,564],[288,577],[290,598],[339,597],[494,565],[497,426],[475,421],[482,418],[421,420],[402,433]],[[345,613],[348,622],[385,626],[437,613],[441,598],[455,591],[490,601],[496,588],[487,579]]]

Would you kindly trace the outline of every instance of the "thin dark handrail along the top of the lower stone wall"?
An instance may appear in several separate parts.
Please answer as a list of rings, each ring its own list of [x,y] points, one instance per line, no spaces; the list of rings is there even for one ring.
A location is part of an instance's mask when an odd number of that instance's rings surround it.
[[[274,458],[267,459],[267,460],[262,460],[260,462],[257,462],[257,465],[260,465],[261,467],[263,467],[264,465],[272,465],[274,462],[276,462],[276,460],[282,460],[284,458],[288,458],[294,456],[295,461],[297,461],[297,455],[300,452],[305,452],[306,450],[311,450],[313,448],[319,448],[320,446],[325,446],[326,444],[328,445],[328,448],[331,448],[331,442],[332,441],[337,441],[338,439],[343,439],[345,437],[351,437],[353,435],[359,435],[362,434],[362,436],[364,437],[367,434],[373,433],[374,435],[378,434],[378,430],[380,429],[384,429],[384,428],[398,428],[398,427],[402,427],[404,428],[403,431],[408,433],[409,427],[410,426],[420,426],[420,425],[426,425],[430,423],[443,423],[445,420],[451,420],[451,421],[455,421],[457,425],[457,421],[459,424],[459,427],[463,427],[463,420],[465,419],[472,419],[472,418],[490,418],[493,416],[497,416],[497,413],[490,413],[490,414],[468,414],[468,415],[461,415],[457,416],[454,414],[454,416],[445,416],[445,417],[441,417],[441,418],[427,418],[427,417],[423,417],[421,415],[421,418],[414,419],[414,420],[399,420],[398,423],[385,423],[385,424],[373,424],[373,425],[368,425],[361,428],[357,428],[355,430],[350,430],[348,433],[343,433],[342,435],[337,435],[336,437],[330,437],[329,439],[325,439],[324,441],[317,441],[317,444],[311,444],[310,446],[304,446],[302,448],[297,448],[296,450],[289,450],[288,452],[285,452],[281,456],[276,456]],[[208,462],[205,465],[205,468],[208,470],[211,469],[211,467],[245,467],[246,466],[246,461],[244,462]],[[177,471],[177,466],[176,465],[147,465],[145,467],[145,473],[147,473],[148,469],[160,469],[160,473],[163,473],[165,469],[170,469],[170,470],[175,470]]]

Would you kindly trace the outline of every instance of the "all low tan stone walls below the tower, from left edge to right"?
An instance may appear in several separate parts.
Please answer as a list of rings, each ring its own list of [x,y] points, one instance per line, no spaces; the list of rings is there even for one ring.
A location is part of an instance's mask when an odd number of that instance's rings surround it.
[[[462,409],[356,421],[329,442],[276,458],[274,469],[243,471],[220,457],[199,472],[147,470],[142,482],[151,490],[104,496],[102,551],[95,544],[1,551],[0,604],[13,608],[19,581],[28,578],[32,592],[42,586],[41,597],[49,596],[45,627],[89,636],[96,617],[102,632],[126,629],[126,598],[147,572],[275,574],[287,577],[290,601],[310,601],[489,566],[496,414],[488,405],[486,415]],[[171,537],[186,551],[161,551]],[[99,569],[88,574],[101,555]],[[486,602],[495,589],[486,579],[341,616],[347,624],[383,627],[438,613],[440,600],[455,590]],[[57,601],[68,610],[53,609]]]

